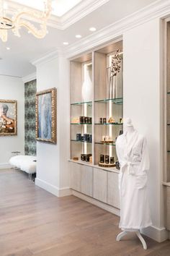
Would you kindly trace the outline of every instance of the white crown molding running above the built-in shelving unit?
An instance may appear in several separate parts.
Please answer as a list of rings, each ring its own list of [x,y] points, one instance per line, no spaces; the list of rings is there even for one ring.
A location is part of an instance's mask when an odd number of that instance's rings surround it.
[[[170,0],[158,0],[153,4],[140,9],[138,12],[134,12],[122,20],[118,20],[117,22],[104,27],[102,30],[79,40],[79,42],[68,46],[65,50],[65,56],[67,58],[71,58],[82,54],[92,48],[96,48],[97,46],[101,46],[111,40],[122,37],[125,31],[130,30],[133,27],[142,25],[143,23],[155,18],[166,18],[169,14]]]

